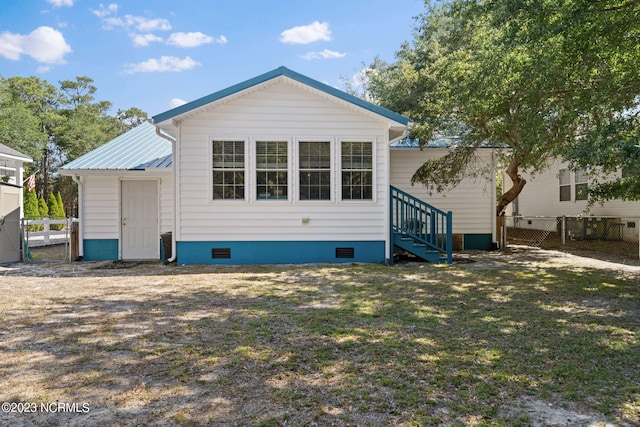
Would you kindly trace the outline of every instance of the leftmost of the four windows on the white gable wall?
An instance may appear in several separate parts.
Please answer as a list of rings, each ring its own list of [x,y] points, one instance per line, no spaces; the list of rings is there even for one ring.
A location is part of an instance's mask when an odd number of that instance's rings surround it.
[[[244,141],[213,141],[213,200],[244,200]]]

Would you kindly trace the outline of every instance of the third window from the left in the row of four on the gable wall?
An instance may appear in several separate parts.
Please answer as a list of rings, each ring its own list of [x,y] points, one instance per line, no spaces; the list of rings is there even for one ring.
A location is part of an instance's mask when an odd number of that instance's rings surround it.
[[[331,143],[300,141],[300,200],[331,200]]]

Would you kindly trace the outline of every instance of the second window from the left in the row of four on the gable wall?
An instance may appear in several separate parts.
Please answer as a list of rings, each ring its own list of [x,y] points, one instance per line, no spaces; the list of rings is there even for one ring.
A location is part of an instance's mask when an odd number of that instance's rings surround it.
[[[256,141],[256,194],[258,200],[287,199],[288,143]]]

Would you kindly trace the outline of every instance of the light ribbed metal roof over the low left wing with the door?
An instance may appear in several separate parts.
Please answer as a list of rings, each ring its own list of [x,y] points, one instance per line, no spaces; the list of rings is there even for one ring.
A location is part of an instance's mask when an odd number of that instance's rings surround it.
[[[145,170],[168,167],[171,167],[171,142],[158,136],[155,126],[145,122],[60,169]]]

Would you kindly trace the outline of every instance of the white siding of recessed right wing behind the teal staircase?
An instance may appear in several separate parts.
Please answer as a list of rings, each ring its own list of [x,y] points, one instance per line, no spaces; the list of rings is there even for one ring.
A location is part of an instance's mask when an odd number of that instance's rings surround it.
[[[431,158],[444,156],[446,149],[392,149],[391,185],[418,197],[445,212],[453,212],[454,234],[491,234],[495,222],[495,185],[491,180],[465,179],[445,194],[429,194],[421,184],[411,185],[411,177],[422,164]],[[491,164],[491,150],[481,149],[480,159]]]

